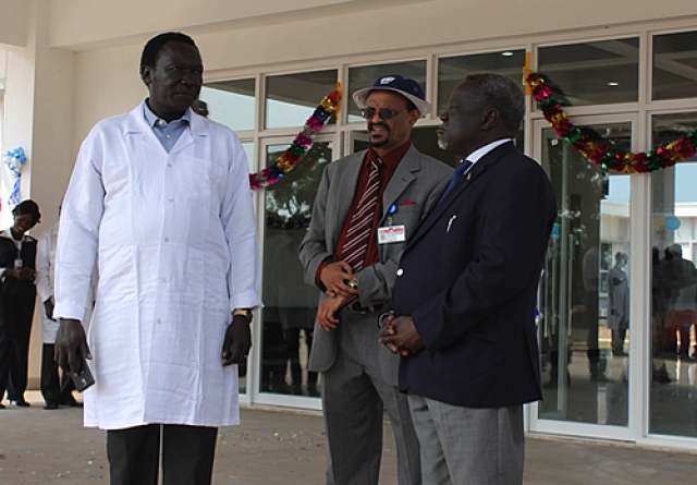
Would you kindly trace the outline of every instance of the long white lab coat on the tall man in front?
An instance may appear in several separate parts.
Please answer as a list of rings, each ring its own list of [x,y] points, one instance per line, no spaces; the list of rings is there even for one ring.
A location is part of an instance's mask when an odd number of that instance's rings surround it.
[[[223,337],[233,308],[261,305],[237,137],[192,114],[168,154],[142,105],[102,120],[81,147],[60,225],[56,316],[82,317],[95,257],[99,267],[85,425],[237,424]]]

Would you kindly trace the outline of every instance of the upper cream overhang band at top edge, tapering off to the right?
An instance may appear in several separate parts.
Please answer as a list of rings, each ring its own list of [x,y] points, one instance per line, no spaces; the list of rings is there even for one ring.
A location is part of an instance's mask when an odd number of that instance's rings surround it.
[[[48,2],[49,0],[47,0]],[[51,45],[76,50],[142,43],[164,31],[248,29],[431,0],[50,0]]]

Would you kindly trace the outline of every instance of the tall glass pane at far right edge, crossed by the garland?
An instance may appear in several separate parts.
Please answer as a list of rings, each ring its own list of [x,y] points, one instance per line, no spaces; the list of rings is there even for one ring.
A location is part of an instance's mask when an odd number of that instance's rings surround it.
[[[657,114],[651,147],[697,129],[697,112]],[[697,437],[697,157],[651,173],[649,432]],[[648,257],[648,256],[647,256]]]

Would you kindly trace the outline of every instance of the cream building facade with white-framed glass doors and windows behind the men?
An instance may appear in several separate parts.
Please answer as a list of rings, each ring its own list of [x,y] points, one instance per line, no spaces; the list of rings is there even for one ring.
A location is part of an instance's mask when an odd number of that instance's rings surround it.
[[[306,368],[317,291],[303,284],[296,250],[323,167],[366,146],[357,88],[391,73],[419,81],[436,109],[413,143],[449,163],[436,129],[452,88],[481,71],[521,80],[527,56],[574,124],[610,149],[646,151],[697,129],[694,2],[230,3],[0,0],[0,143],[25,147],[22,194],[39,202],[48,228],[88,130],[146,95],[139,52],[158,32],[196,39],[200,99],[240,135],[252,172],[342,84],[343,109],[308,155],[255,192],[266,307],[244,381],[249,404],[320,409],[321,379]],[[517,145],[545,167],[560,207],[539,292],[545,400],[527,407],[529,433],[697,450],[697,160],[606,172],[560,140],[533,100]]]

